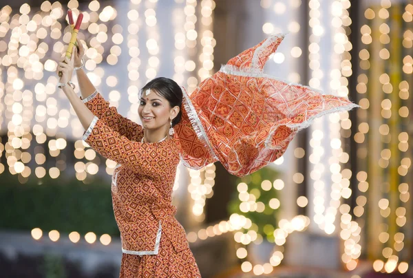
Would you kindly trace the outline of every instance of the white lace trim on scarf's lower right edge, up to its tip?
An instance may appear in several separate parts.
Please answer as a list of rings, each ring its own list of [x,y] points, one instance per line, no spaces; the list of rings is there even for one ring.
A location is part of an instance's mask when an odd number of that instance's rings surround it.
[[[286,127],[289,127],[290,129],[293,129],[293,133],[291,133],[291,135],[288,136],[288,138],[295,136],[295,133],[297,133],[301,129],[306,129],[307,127],[309,127],[316,118],[320,118],[320,117],[325,116],[327,114],[337,113],[337,112],[341,112],[341,111],[349,111],[349,110],[351,110],[353,108],[356,108],[356,107],[360,107],[360,106],[357,105],[357,104],[351,103],[349,105],[345,105],[345,106],[341,106],[341,107],[335,107],[335,108],[332,108],[332,109],[321,111],[319,114],[311,116],[310,118],[308,118],[304,122],[300,122],[300,123],[297,123],[297,124],[286,124],[285,125]],[[277,131],[278,127],[279,127],[278,125],[275,125],[272,128],[273,130],[270,132],[270,134],[266,138],[266,140],[264,142],[264,145],[265,145],[266,148],[268,148],[268,149],[282,149],[281,146],[269,147],[270,140],[271,140],[271,138],[273,138],[274,133],[275,133],[275,131]],[[288,140],[288,138],[286,138],[285,140]]]

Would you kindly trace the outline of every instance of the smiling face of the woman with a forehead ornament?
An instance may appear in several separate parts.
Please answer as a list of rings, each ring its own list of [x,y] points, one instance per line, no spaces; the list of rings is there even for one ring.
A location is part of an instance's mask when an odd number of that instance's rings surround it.
[[[140,120],[145,129],[158,129],[164,125],[170,125],[170,120],[175,118],[174,109],[171,109],[169,101],[151,90],[149,95],[143,92],[138,108]]]

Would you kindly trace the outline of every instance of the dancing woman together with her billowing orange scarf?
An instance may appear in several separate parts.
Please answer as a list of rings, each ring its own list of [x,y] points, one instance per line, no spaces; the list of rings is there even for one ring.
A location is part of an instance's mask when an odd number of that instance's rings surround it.
[[[120,277],[200,277],[171,205],[179,161],[200,169],[219,160],[229,173],[248,175],[282,156],[315,118],[357,107],[347,98],[264,74],[283,39],[275,34],[231,58],[190,97],[168,78],[149,82],[138,109],[143,128],[96,92],[81,69],[80,41],[79,53],[74,47],[72,58],[59,63],[59,84],[86,130],[83,140],[118,162],[112,200],[123,247]],[[66,85],[74,65],[82,100]]]

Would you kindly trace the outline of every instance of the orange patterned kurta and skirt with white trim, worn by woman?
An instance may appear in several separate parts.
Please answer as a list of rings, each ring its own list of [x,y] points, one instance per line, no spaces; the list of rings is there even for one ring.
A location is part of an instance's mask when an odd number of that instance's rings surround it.
[[[143,128],[109,107],[100,94],[83,103],[95,115],[83,140],[118,162],[112,203],[123,250],[120,277],[200,277],[171,204],[179,141],[142,143]]]

